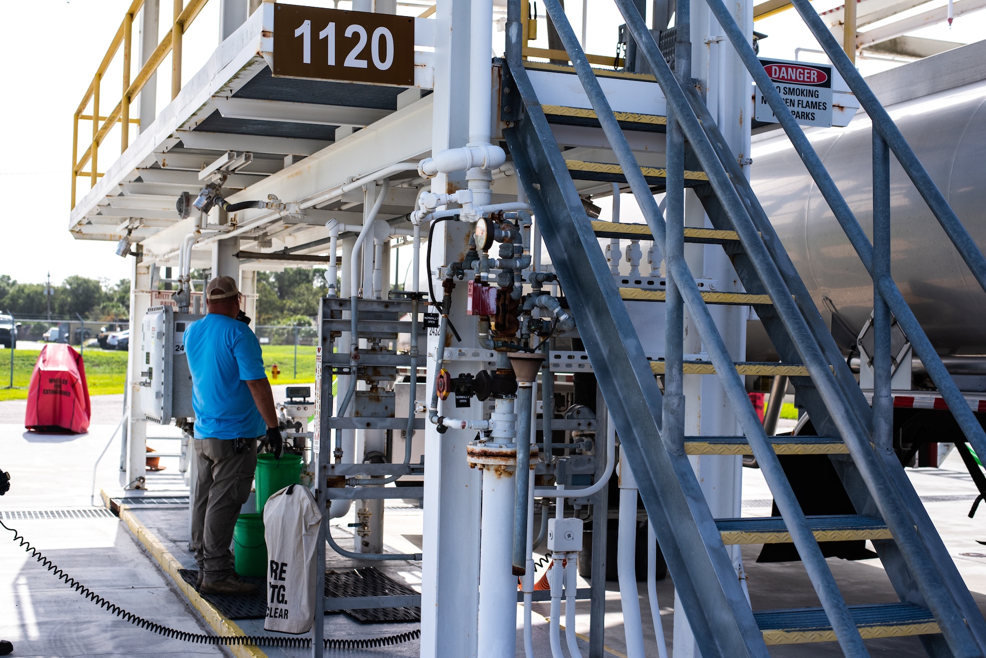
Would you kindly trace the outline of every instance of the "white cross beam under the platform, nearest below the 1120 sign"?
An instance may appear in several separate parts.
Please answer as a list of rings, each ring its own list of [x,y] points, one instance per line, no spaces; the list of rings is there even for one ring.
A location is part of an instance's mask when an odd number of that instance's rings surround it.
[[[364,127],[389,114],[389,109],[343,107],[313,102],[287,102],[263,99],[214,99],[219,113],[227,118],[288,123],[316,123],[329,126]],[[292,152],[294,153],[294,152]],[[314,152],[313,152],[314,153]],[[311,155],[311,154],[304,154]]]

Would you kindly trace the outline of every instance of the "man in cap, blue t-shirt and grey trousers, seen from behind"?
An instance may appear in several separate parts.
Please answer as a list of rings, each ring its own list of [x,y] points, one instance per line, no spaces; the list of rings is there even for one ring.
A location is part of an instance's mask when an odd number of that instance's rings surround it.
[[[208,314],[184,333],[197,469],[191,543],[200,592],[246,596],[256,588],[237,576],[230,543],[253,482],[257,440],[266,435],[279,456],[281,433],[260,343],[238,319],[236,282],[216,277],[205,288],[205,300]]]

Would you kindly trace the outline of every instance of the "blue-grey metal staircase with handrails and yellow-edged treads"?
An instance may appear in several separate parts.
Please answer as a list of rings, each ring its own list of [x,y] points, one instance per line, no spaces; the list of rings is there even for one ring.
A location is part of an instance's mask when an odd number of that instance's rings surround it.
[[[624,449],[635,464],[640,494],[695,640],[706,658],[767,656],[766,644],[830,640],[838,640],[846,655],[864,656],[868,655],[864,638],[905,634],[918,635],[931,656],[986,655],[986,622],[891,447],[892,311],[921,359],[929,360],[929,372],[969,442],[977,452],[986,452],[986,435],[889,276],[888,149],[911,175],[984,288],[986,259],[927,174],[922,175],[924,169],[807,0],[795,0],[794,4],[877,124],[874,244],[852,216],[783,100],[766,80],[763,68],[726,7],[721,0],[707,2],[874,276],[878,374],[872,409],[735,155],[726,147],[691,84],[686,54],[690,47],[686,2],[679,0],[677,4],[675,76],[632,0],[616,0],[667,99],[668,116],[664,117],[612,111],[557,0],[545,0],[544,4],[593,109],[541,105],[521,58],[520,1],[511,0],[503,88],[514,98],[503,104],[501,114],[512,124],[504,136],[555,271],[579,322],[580,336],[606,406]],[[681,80],[687,80],[687,84],[680,84]],[[517,101],[518,95],[521,102]],[[599,126],[618,165],[565,160],[551,132],[551,123]],[[642,167],[636,162],[623,132],[632,130],[667,130],[665,168]],[[686,170],[686,162],[690,170]],[[696,170],[696,164],[700,170]],[[574,179],[628,183],[647,227],[590,221]],[[652,185],[667,190],[667,221],[654,200]],[[694,188],[714,230],[684,228],[686,185]],[[659,286],[663,290],[621,288],[599,248],[600,236],[653,239],[667,267],[668,276]],[[683,243],[689,240],[722,244],[729,249],[746,293],[710,296],[700,290],[683,257]],[[666,303],[665,361],[649,362],[646,358],[624,305],[627,298]],[[782,362],[734,362],[709,312],[710,303],[752,304]],[[709,362],[684,361],[684,308],[699,331]],[[743,436],[684,435],[681,375],[689,372],[715,372],[720,376]],[[656,382],[658,373],[665,375],[664,396]],[[808,409],[818,436],[767,436],[749,404],[740,376],[744,373],[792,376],[799,401]],[[687,455],[750,453],[763,470],[781,517],[714,519]],[[857,514],[806,516],[778,454],[830,455]],[[818,542],[859,539],[873,541],[900,603],[846,605]],[[782,542],[791,542],[797,548],[822,607],[753,613],[725,546]]]

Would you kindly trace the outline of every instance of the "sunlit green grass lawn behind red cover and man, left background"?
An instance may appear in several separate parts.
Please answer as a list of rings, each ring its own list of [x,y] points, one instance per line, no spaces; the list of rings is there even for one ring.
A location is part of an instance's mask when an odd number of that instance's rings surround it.
[[[298,347],[298,376],[295,377],[295,348],[293,345],[264,345],[263,367],[274,384],[306,384],[315,381],[315,346]],[[37,350],[14,351],[14,388],[10,385],[10,352],[0,350],[0,401],[23,400],[28,397],[31,373],[35,369]],[[83,354],[90,395],[122,393],[126,384],[126,352],[88,349]],[[271,377],[271,366],[277,363],[280,374]]]

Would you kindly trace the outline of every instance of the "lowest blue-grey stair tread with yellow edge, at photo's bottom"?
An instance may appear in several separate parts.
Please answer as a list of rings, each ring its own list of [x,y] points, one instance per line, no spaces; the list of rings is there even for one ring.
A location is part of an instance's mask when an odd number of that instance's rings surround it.
[[[940,632],[931,612],[913,603],[849,606],[849,614],[866,638]],[[832,625],[821,608],[753,611],[753,619],[769,645],[835,639]]]

